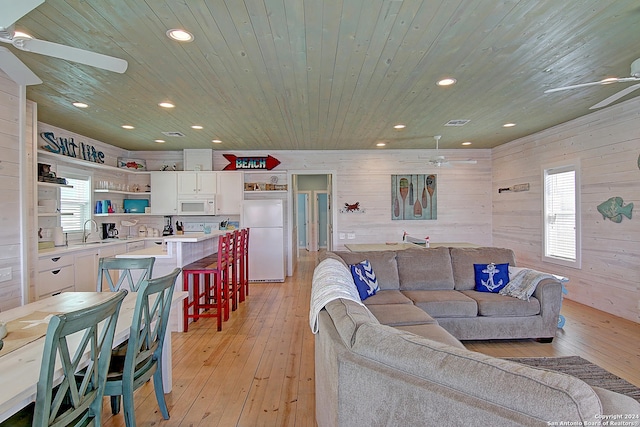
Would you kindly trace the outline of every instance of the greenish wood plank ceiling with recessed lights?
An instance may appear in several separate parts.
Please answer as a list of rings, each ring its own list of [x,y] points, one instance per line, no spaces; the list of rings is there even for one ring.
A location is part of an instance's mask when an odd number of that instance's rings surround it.
[[[46,0],[16,30],[129,62],[3,45],[44,82],[27,91],[40,121],[128,150],[489,148],[588,114],[630,83],[544,90],[627,77],[640,57],[637,0]]]

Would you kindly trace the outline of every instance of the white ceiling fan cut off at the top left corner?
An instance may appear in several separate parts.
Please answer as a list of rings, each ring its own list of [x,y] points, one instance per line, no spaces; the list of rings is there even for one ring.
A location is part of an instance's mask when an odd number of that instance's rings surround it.
[[[38,40],[16,33],[14,31],[15,22],[42,3],[44,3],[44,0],[0,0],[0,10],[2,11],[0,16],[0,42],[11,44],[25,52],[52,56],[116,73],[124,73],[127,70],[128,63],[124,59]],[[19,83],[25,81],[26,83],[23,84],[42,83],[9,49],[0,48],[0,59],[0,68],[13,80]]]

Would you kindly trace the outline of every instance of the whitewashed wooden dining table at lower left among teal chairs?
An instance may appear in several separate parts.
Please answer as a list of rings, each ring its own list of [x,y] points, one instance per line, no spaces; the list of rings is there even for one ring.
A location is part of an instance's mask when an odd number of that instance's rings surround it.
[[[40,365],[44,350],[44,334],[46,333],[46,328],[42,328],[39,324],[46,324],[45,322],[48,321],[46,317],[49,314],[79,310],[98,304],[109,298],[109,296],[111,296],[110,292],[64,292],[0,312],[0,322],[9,324],[9,322],[18,320],[25,325],[32,325],[34,330],[40,329],[40,332],[34,331],[35,335],[30,338],[25,338],[25,334],[16,332],[16,336],[20,335],[18,345],[11,345],[13,335],[11,331],[4,339],[5,348],[0,350],[0,422],[6,420],[29,403],[35,402],[36,386],[40,376]],[[176,314],[178,319],[181,318],[181,312],[179,312],[182,307],[181,301],[186,296],[186,292],[174,291],[171,301],[172,318],[175,318]],[[129,338],[129,329],[135,305],[136,293],[129,292],[123,300],[118,314],[118,322],[113,339],[114,347]],[[175,313],[174,309],[179,313]],[[170,321],[170,325],[172,323],[174,323],[173,320]],[[165,338],[162,353],[162,374],[165,393],[169,393],[172,387],[170,330],[171,328],[167,328],[167,337]],[[7,352],[8,350],[11,351]],[[85,358],[89,360],[88,353],[85,354]],[[62,370],[59,364],[56,366],[54,382],[57,378],[62,378]]]

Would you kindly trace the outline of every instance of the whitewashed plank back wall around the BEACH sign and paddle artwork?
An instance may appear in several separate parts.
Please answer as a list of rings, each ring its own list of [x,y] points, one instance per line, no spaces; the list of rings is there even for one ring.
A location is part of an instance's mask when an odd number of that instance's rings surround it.
[[[436,168],[426,164],[434,150],[363,151],[271,151],[265,153],[214,153],[214,169],[228,164],[223,154],[237,156],[272,155],[281,164],[275,170],[334,171],[337,179],[337,208],[360,202],[363,214],[337,214],[338,233],[355,233],[353,240],[338,240],[335,249],[345,243],[398,242],[402,232],[429,236],[432,242],[472,242],[491,244],[491,151],[440,150],[453,158],[477,159],[475,165]],[[438,219],[434,221],[391,220],[391,175],[438,175]]]

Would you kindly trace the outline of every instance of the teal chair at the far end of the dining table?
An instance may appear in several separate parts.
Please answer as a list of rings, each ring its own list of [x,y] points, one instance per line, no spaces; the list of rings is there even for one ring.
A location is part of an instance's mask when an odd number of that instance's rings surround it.
[[[126,287],[131,292],[137,292],[142,281],[151,278],[155,260],[153,257],[100,258],[96,289],[98,292],[102,292],[103,284],[106,283],[109,289],[115,292],[126,283]],[[135,279],[134,276],[136,276]]]

